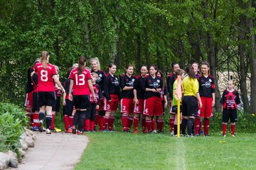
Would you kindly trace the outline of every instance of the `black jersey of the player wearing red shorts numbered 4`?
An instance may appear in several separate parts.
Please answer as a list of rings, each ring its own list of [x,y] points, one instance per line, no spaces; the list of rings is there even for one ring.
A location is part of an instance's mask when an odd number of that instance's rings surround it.
[[[145,91],[145,98],[150,98],[152,96],[156,96],[161,98],[161,94],[160,92],[155,93],[152,91],[146,91],[146,88],[148,89],[162,89],[163,87],[163,80],[161,79],[161,77],[156,76],[155,78],[151,77],[151,76],[147,76],[145,77],[145,84],[144,84],[144,91]]]

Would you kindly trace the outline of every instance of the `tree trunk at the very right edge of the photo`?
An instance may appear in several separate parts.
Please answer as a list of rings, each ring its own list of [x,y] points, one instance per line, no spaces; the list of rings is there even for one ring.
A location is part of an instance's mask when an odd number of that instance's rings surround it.
[[[252,1],[249,1],[249,8],[252,8]],[[255,33],[252,18],[249,18],[248,28],[250,30],[250,108],[251,113],[256,113],[256,52],[255,52]]]

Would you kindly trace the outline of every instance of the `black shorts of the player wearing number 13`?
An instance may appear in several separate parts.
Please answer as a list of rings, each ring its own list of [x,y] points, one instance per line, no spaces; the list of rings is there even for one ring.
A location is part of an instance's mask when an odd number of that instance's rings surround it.
[[[89,110],[91,108],[89,95],[74,95],[73,101],[74,101],[75,109]]]

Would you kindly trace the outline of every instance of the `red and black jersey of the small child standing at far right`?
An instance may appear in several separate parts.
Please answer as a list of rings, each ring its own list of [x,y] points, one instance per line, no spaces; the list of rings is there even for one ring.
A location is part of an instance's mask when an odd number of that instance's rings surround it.
[[[223,91],[223,96],[220,99],[220,104],[223,104],[223,108],[227,110],[235,110],[240,104],[240,98],[238,91],[228,91],[227,89]]]

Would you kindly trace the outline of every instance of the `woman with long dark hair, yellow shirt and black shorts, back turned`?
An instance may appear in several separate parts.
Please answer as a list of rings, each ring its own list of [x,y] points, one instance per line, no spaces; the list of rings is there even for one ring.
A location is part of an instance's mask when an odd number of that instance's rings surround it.
[[[199,108],[202,108],[202,102],[199,95],[199,84],[196,79],[195,72],[193,72],[193,67],[188,64],[186,67],[186,72],[188,76],[183,79],[183,98],[182,98],[182,123],[181,123],[181,133],[186,135],[186,127],[188,127],[188,136],[192,136],[192,126],[194,122],[194,116],[198,113],[198,102]]]

